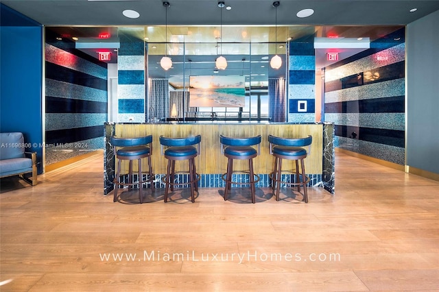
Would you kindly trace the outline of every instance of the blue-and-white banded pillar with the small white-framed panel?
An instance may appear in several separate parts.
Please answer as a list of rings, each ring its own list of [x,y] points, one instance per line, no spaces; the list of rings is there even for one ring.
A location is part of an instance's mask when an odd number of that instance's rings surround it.
[[[316,121],[316,56],[310,40],[289,42],[288,121]]]

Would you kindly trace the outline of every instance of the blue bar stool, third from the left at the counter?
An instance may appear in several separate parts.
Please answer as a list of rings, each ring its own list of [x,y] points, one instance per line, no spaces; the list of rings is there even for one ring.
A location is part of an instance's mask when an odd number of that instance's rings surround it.
[[[259,175],[254,174],[253,158],[258,156],[261,152],[261,135],[250,138],[234,138],[220,135],[219,142],[221,143],[221,154],[224,154],[224,156],[228,158],[227,173],[224,173],[221,177],[222,180],[226,182],[226,188],[224,189],[224,201],[227,200],[228,191],[230,191],[232,184],[250,184],[252,203],[254,204],[254,184],[259,182],[260,178]],[[257,148],[255,148],[254,145],[257,145]],[[233,171],[234,159],[248,160],[248,171]],[[233,182],[232,174],[234,172],[248,173],[248,182]]]

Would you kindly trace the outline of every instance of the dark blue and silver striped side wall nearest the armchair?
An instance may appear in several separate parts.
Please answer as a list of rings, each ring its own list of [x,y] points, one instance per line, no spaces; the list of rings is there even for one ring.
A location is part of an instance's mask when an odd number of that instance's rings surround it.
[[[46,164],[104,148],[107,65],[56,41],[47,29]],[[62,150],[62,151],[61,151]]]

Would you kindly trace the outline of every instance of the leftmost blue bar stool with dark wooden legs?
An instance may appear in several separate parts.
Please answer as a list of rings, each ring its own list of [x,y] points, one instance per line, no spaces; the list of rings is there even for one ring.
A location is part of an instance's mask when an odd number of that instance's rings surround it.
[[[143,136],[139,138],[117,138],[116,136],[112,136],[110,138],[110,143],[113,146],[114,153],[117,159],[117,171],[115,175],[115,179],[113,180],[115,184],[115,195],[113,197],[113,202],[117,200],[117,189],[119,186],[128,186],[128,190],[132,188],[134,185],[139,186],[139,200],[140,203],[143,203],[142,198],[142,188],[143,184],[149,182],[151,184],[151,189],[154,191],[154,174],[152,173],[152,165],[151,165],[151,154],[152,154],[152,135]],[[143,180],[142,173],[142,158],[147,158],[148,164],[148,176],[146,180]],[[128,160],[128,183],[119,182],[122,175],[121,174],[121,161]],[[139,170],[137,172],[138,181],[133,182],[134,173],[132,172],[132,162],[133,160],[137,160],[139,165]]]

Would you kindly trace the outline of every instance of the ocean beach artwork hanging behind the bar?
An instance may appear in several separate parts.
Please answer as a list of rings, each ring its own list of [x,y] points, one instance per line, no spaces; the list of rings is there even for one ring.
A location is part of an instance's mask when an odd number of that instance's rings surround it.
[[[191,76],[189,77],[190,107],[245,106],[246,87],[244,76]]]

